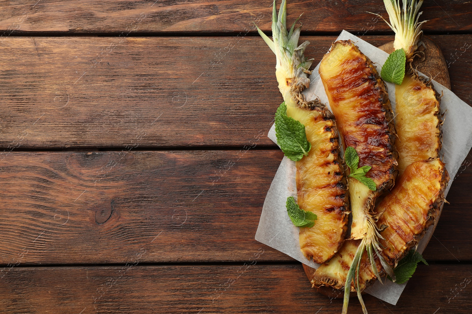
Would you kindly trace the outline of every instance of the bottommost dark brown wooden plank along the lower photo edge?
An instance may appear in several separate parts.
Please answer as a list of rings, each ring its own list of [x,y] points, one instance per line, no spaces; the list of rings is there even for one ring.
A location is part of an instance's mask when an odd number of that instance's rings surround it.
[[[134,266],[146,254],[118,267],[14,267],[0,285],[1,313],[341,312],[342,300],[312,290],[301,265],[259,265],[254,257],[252,266]],[[465,314],[471,278],[468,265],[420,265],[396,306],[364,301],[369,313]],[[355,297],[349,313],[362,313]]]

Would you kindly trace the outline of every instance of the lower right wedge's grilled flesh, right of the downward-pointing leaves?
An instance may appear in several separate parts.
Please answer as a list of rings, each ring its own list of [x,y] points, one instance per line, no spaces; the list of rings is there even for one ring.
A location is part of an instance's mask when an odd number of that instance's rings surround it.
[[[380,232],[385,240],[382,256],[395,265],[421,239],[434,222],[442,202],[449,175],[439,159],[415,161],[406,167],[397,184],[377,207],[382,213],[377,225],[386,225]]]

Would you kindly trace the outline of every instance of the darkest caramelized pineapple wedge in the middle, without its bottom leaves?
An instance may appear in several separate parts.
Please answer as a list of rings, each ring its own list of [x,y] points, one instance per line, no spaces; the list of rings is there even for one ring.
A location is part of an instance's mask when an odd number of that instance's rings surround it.
[[[348,178],[353,222],[351,237],[366,234],[366,213],[375,199],[392,187],[396,177],[395,129],[388,94],[371,60],[351,40],[335,42],[320,64],[320,76],[329,105],[336,117],[344,147],[359,154],[359,167],[367,173],[377,191]]]

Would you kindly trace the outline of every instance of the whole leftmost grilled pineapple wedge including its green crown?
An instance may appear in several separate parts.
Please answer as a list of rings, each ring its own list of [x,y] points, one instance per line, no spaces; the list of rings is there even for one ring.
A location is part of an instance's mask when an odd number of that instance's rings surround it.
[[[333,115],[319,100],[308,101],[302,94],[310,86],[312,59],[304,56],[309,42],[298,45],[301,27],[295,28],[295,23],[287,30],[287,3],[282,1],[277,15],[274,0],[272,40],[257,30],[276,55],[275,74],[287,116],[305,126],[307,140],[312,145],[295,163],[297,203],[301,209],[315,213],[317,220],[313,227],[300,228],[299,240],[306,258],[323,263],[339,250],[346,235],[347,182]]]

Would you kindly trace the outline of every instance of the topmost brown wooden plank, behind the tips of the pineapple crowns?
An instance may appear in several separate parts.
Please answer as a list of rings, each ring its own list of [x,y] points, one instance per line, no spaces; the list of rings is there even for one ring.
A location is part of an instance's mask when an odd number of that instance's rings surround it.
[[[277,1],[278,5],[281,1]],[[236,0],[42,0],[0,1],[0,30],[16,32],[249,32],[253,22],[270,31],[272,1]],[[289,1],[287,20],[304,13],[303,31],[390,32],[382,1]],[[427,32],[471,31],[469,1],[426,1]],[[291,23],[291,22],[290,22]]]

